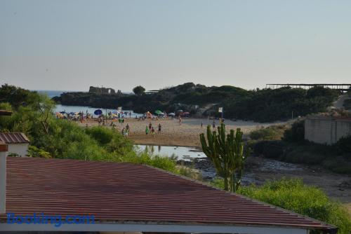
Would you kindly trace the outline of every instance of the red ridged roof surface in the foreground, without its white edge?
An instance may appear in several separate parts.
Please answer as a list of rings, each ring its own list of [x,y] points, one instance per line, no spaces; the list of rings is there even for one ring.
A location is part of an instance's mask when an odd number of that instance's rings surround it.
[[[333,228],[241,195],[131,163],[8,157],[6,212],[158,221]],[[6,216],[0,215],[0,220]]]

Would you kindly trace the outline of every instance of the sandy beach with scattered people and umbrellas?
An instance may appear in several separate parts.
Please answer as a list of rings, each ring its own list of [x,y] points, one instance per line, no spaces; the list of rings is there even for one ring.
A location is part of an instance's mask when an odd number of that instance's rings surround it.
[[[203,128],[201,128],[201,121]],[[152,137],[150,134],[145,134],[145,128],[149,123],[156,130],[156,134]],[[111,121],[107,121],[109,126]],[[158,125],[161,124],[161,134],[157,132]],[[123,125],[119,124],[118,121],[114,121],[117,125],[116,129],[121,131],[127,124],[130,127],[128,135],[129,139],[132,139],[135,144],[150,144],[150,145],[161,145],[161,146],[201,146],[199,141],[199,134],[206,132],[206,125],[212,125],[213,120],[201,119],[201,118],[183,118],[180,124],[176,118],[166,118],[159,120],[145,120],[139,121],[135,118],[125,118]],[[219,124],[218,120],[215,120],[216,126]],[[247,137],[252,130],[257,128],[267,127],[268,125],[274,125],[279,123],[255,123],[253,121],[225,121],[227,130],[241,128],[244,132],[244,137]],[[86,123],[81,123],[86,125]],[[98,125],[96,121],[88,121],[88,126]]]

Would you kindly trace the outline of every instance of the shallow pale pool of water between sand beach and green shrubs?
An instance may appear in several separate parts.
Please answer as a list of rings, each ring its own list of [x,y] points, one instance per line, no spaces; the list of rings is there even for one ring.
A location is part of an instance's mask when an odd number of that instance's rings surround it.
[[[147,145],[135,145],[138,146],[138,151],[151,153],[152,155],[159,156],[177,156],[178,160],[190,160],[192,158],[206,158],[206,155],[197,148],[194,147],[183,147],[183,146],[147,146]]]

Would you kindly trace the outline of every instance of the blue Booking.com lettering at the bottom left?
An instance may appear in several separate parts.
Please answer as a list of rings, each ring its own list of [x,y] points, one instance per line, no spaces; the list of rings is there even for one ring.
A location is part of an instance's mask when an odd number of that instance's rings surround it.
[[[32,215],[16,215],[15,213],[7,213],[8,224],[48,224],[51,223],[55,227],[59,227],[64,223],[79,224],[79,223],[95,223],[93,215],[46,215],[44,213],[34,213]]]

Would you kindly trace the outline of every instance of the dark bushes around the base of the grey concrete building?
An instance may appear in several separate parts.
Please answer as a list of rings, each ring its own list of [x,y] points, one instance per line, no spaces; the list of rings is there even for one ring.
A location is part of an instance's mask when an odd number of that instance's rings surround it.
[[[337,144],[331,146],[307,142],[304,121],[296,121],[290,128],[282,126],[255,130],[250,136],[253,141],[249,144],[256,155],[289,163],[321,165],[333,172],[351,174],[350,136],[339,139]]]

